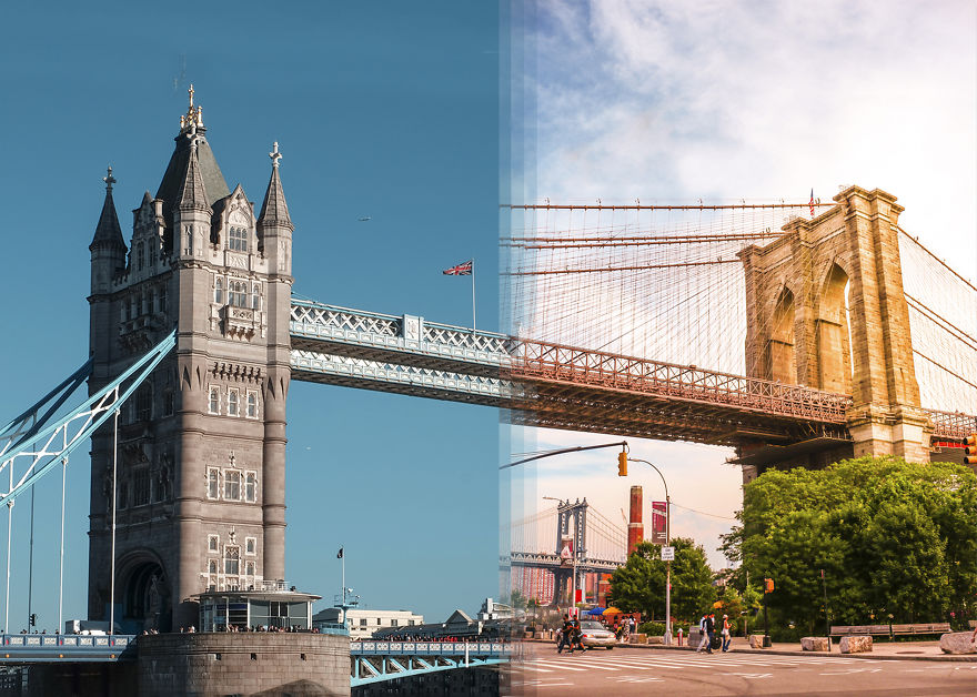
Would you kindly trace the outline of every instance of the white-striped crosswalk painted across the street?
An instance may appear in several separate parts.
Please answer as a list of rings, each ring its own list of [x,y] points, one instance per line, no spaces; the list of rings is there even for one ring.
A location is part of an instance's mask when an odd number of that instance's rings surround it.
[[[859,659],[859,667],[868,667],[872,664],[885,661]],[[610,651],[596,655],[587,651],[582,655],[567,656],[554,655],[532,656],[522,660],[514,660],[510,670],[513,676],[542,676],[545,674],[563,675],[570,677],[574,673],[593,673],[603,670],[607,673],[621,671],[664,671],[684,670],[689,668],[723,668],[729,673],[736,669],[748,669],[747,675],[763,675],[762,668],[790,668],[797,666],[836,666],[843,664],[846,668],[852,666],[849,658],[834,658],[830,656],[763,656],[756,654],[713,654],[701,655],[685,651],[654,651],[641,655],[624,651]],[[631,679],[631,678],[628,678]]]

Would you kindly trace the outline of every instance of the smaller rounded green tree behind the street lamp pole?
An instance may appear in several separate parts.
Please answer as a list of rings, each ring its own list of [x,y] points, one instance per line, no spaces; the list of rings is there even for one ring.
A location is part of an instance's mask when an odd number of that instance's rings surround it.
[[[702,545],[685,537],[672,541],[672,615],[682,619],[698,617],[716,594],[713,572]],[[611,577],[607,603],[625,613],[639,612],[646,619],[665,617],[665,562],[661,545],[638,543],[627,563]]]

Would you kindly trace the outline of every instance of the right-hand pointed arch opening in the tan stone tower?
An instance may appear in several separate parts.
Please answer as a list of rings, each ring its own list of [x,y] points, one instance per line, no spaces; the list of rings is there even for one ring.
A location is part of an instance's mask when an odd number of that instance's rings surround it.
[[[817,313],[818,386],[852,394],[852,343],[848,316],[848,274],[832,264]]]

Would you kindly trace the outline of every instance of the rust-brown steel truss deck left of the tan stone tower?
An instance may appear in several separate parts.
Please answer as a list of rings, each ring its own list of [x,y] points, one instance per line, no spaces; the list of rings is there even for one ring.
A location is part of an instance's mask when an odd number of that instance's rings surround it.
[[[510,375],[524,385],[514,423],[716,445],[846,434],[847,395],[546,342],[511,346]]]

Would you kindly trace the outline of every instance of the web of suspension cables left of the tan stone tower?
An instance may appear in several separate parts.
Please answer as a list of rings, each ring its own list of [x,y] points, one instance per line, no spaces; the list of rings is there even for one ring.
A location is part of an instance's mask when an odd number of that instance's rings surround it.
[[[807,203],[512,208],[502,240],[505,326],[526,339],[751,374],[737,253],[806,214]]]

